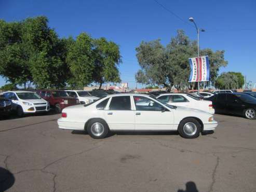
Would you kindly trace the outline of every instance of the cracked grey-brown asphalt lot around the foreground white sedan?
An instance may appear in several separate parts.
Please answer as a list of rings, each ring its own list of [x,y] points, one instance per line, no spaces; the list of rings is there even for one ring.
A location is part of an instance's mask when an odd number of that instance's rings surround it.
[[[215,115],[217,130],[193,140],[94,140],[58,129],[58,117],[0,121],[0,191],[256,191],[256,120]]]

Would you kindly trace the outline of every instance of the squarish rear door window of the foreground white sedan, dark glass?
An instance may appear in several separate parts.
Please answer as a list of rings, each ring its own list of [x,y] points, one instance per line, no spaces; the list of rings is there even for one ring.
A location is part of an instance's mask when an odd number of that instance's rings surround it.
[[[131,110],[130,96],[112,97],[109,108],[120,111]]]

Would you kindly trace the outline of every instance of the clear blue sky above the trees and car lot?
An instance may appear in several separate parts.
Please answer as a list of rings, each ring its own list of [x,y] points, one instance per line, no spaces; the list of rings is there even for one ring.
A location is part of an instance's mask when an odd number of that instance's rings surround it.
[[[220,73],[241,72],[248,81],[253,82],[252,85],[256,83],[256,1],[157,2],[0,0],[0,19],[12,22],[46,16],[50,28],[54,28],[60,37],[75,38],[86,32],[93,38],[106,37],[112,40],[119,45],[122,55],[120,77],[134,88],[134,75],[140,69],[135,48],[142,40],[161,39],[161,43],[167,45],[171,37],[176,36],[178,29],[183,29],[188,37],[196,40],[196,29],[188,21],[189,17],[193,17],[199,28],[206,30],[200,33],[200,48],[225,50],[228,65],[222,67]],[[0,77],[0,86],[4,84],[5,80]]]

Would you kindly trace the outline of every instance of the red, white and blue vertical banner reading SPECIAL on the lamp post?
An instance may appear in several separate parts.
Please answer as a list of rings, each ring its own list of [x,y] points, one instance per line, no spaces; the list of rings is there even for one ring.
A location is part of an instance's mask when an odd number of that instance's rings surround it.
[[[188,82],[209,81],[210,63],[208,56],[190,58],[190,79]]]

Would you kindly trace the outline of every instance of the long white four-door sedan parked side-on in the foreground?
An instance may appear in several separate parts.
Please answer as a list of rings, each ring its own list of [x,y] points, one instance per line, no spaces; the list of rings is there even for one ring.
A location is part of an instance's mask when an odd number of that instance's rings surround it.
[[[148,103],[144,105],[141,103]],[[111,94],[87,105],[63,109],[60,129],[86,130],[92,138],[109,131],[177,131],[183,138],[197,138],[214,130],[218,122],[209,113],[168,105],[145,94]]]

